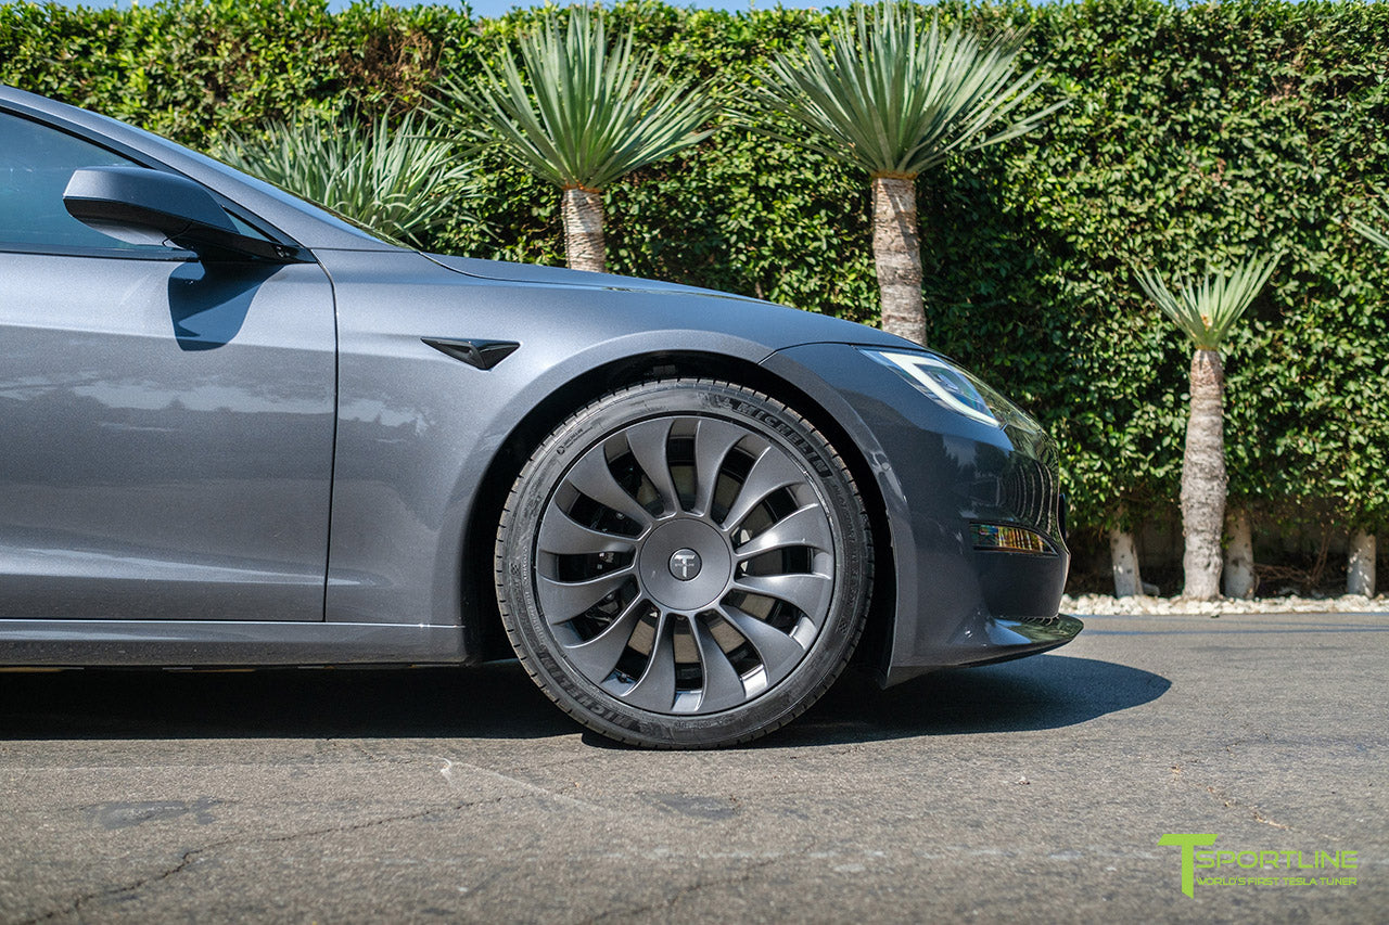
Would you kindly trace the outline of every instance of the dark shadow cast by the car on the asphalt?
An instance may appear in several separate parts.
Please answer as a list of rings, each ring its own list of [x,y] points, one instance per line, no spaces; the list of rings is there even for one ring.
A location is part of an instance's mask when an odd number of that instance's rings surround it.
[[[881,690],[850,672],[767,746],[1051,729],[1147,703],[1165,678],[1090,658],[928,675]],[[572,735],[517,662],[476,668],[0,674],[0,740]],[[594,746],[606,739],[586,735]]]

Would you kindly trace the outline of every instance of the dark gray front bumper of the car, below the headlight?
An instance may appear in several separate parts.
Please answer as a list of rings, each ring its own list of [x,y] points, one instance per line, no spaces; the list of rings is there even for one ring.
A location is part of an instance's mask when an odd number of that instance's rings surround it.
[[[1031,656],[1081,631],[1058,614],[1070,551],[1047,438],[956,414],[845,344],[792,347],[763,365],[835,417],[876,481],[893,562],[881,683]],[[975,524],[1022,526],[1051,551],[975,549]]]

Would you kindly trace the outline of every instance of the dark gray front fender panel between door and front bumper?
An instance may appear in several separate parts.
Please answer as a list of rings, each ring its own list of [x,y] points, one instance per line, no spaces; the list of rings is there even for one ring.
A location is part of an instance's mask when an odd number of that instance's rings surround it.
[[[615,289],[571,271],[538,275],[600,285],[518,283],[411,251],[317,254],[338,292],[340,356],[329,621],[457,622],[457,562],[488,465],[531,408],[589,369],[671,350],[756,364],[826,336],[900,344],[835,318],[678,286]],[[482,371],[422,338],[521,347]]]

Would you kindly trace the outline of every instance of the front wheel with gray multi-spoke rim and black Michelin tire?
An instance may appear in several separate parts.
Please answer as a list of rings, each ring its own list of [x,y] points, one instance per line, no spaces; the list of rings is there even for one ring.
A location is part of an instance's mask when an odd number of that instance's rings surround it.
[[[806,710],[871,585],[867,515],[804,418],[724,382],[647,382],[563,424],[497,538],[503,621],[561,707],[604,735],[708,747]]]

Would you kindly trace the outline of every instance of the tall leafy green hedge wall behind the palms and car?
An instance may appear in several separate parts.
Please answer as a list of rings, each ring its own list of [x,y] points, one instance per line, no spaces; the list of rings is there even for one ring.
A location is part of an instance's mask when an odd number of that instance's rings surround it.
[[[1389,3],[945,3],[1028,26],[1070,106],[1031,138],[922,178],[929,340],[1058,438],[1079,526],[1171,517],[1189,350],[1132,279],[1286,251],[1233,338],[1231,494],[1300,529],[1389,522],[1389,254],[1349,228],[1389,183]],[[614,11],[729,99],[810,11]],[[0,81],[194,147],[296,110],[404,111],[533,17],[324,0],[168,0],[126,11],[0,6]],[[561,261],[556,193],[499,164],[433,249]],[[607,193],[610,264],[875,319],[867,178],[724,126]]]

